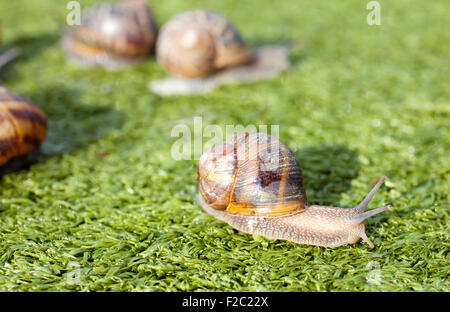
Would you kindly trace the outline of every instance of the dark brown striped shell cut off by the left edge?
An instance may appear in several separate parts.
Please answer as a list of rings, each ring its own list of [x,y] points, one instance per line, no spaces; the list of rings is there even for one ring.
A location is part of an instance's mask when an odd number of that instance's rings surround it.
[[[47,136],[47,119],[29,99],[0,86],[0,166],[31,153]]]

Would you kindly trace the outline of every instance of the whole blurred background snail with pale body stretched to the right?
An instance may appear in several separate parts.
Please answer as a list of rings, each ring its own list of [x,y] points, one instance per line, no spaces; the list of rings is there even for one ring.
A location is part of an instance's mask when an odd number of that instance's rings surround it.
[[[198,94],[221,85],[269,79],[288,69],[293,46],[251,49],[228,19],[197,9],[161,27],[156,57],[169,78],[151,82],[160,95]]]

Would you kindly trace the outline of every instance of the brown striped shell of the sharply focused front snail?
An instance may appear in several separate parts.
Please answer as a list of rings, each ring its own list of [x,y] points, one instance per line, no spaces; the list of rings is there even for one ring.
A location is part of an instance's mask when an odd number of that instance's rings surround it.
[[[280,217],[307,207],[294,154],[264,133],[239,134],[204,153],[198,183],[210,207],[231,215]]]

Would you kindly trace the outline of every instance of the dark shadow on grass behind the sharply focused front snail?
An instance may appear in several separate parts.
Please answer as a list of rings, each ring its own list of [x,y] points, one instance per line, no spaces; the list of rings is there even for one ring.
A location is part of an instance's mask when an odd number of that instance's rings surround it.
[[[338,206],[361,169],[358,154],[345,145],[311,146],[296,152],[296,157],[309,204]]]

